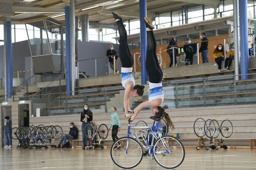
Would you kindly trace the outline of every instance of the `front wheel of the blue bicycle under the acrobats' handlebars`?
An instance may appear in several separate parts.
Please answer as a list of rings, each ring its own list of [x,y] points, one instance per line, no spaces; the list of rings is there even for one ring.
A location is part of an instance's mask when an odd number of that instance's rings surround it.
[[[110,150],[111,159],[121,168],[133,168],[142,160],[142,147],[134,138],[121,137],[117,139]]]

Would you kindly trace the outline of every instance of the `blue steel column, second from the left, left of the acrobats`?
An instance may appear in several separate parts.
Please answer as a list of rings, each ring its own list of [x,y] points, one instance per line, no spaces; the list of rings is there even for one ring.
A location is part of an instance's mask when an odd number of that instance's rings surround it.
[[[65,7],[65,33],[66,33],[66,91],[71,95],[71,18],[70,4]]]

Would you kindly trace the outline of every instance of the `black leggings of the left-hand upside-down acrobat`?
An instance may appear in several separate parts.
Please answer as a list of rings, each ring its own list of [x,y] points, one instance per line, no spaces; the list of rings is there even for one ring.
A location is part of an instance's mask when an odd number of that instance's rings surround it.
[[[127,32],[121,20],[117,21],[116,23],[120,36],[119,57],[122,63],[122,67],[133,67],[133,57],[130,53],[129,46],[127,44]]]

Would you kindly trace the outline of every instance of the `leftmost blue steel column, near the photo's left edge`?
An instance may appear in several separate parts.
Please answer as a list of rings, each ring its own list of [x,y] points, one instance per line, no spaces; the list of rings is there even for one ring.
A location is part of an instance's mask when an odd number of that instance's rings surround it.
[[[7,98],[12,97],[12,22],[6,20],[6,82]]]

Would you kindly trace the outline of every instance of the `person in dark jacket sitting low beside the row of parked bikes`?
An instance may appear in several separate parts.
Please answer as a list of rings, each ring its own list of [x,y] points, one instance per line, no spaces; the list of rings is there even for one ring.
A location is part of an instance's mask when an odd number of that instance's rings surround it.
[[[68,140],[73,140],[73,139],[77,139],[78,137],[78,129],[77,127],[75,127],[75,124],[73,122],[71,122],[69,124],[70,126],[70,131],[69,134],[63,134],[62,137],[60,138],[59,144],[57,148],[60,148],[60,144],[64,141],[64,144],[62,145],[62,148],[66,147],[66,142],[67,139]]]

